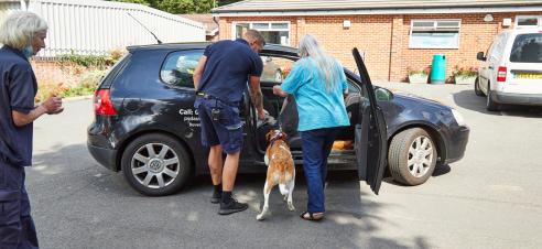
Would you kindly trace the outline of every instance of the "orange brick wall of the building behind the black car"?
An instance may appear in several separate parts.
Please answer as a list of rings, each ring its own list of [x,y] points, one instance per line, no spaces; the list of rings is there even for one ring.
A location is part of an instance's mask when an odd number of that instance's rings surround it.
[[[446,56],[447,77],[455,65],[478,66],[476,53],[487,51],[496,34],[510,29],[502,26],[505,18],[512,19],[513,25],[518,14],[541,15],[542,12],[495,13],[492,22],[484,22],[486,13],[220,18],[219,29],[220,40],[226,40],[231,39],[232,22],[290,21],[291,46],[297,46],[304,34],[316,35],[326,51],[350,69],[355,69],[351,48],[356,46],[365,52],[372,79],[397,82],[406,78],[406,67],[427,66],[437,53]],[[460,19],[459,48],[409,48],[412,19]],[[350,20],[349,29],[343,28],[344,20]]]

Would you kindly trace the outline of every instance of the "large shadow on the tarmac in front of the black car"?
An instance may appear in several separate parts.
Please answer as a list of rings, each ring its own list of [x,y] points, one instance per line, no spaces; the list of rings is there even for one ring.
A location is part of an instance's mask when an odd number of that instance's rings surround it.
[[[257,221],[265,174],[238,175],[235,195],[250,208],[218,216],[218,206],[208,202],[212,184],[207,175],[195,177],[177,194],[148,197],[133,191],[122,173],[94,161],[85,144],[52,148],[34,156],[29,175],[44,247],[149,248],[156,240],[164,242],[163,248],[213,247],[217,241],[224,248],[431,247],[423,234],[413,238],[381,236],[386,234],[383,225],[398,225],[384,215],[389,204],[379,202],[367,186],[360,188],[356,172],[329,172],[324,220],[299,217],[306,209],[307,197],[304,176],[297,173],[296,210],[288,210],[275,187],[270,197],[271,216]]]

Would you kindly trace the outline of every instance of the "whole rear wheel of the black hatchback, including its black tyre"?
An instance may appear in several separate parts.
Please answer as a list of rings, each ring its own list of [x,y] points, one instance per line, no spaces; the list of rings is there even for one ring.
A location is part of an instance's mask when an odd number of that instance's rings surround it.
[[[160,133],[141,136],[128,144],[122,153],[121,167],[128,183],[149,196],[178,192],[192,172],[183,144]]]

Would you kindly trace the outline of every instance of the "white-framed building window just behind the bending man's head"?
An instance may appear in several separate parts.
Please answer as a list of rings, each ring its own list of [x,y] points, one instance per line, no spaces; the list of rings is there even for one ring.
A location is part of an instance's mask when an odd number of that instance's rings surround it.
[[[289,45],[290,22],[238,22],[234,23],[235,37],[240,39],[245,31],[252,29],[260,31],[267,43]]]

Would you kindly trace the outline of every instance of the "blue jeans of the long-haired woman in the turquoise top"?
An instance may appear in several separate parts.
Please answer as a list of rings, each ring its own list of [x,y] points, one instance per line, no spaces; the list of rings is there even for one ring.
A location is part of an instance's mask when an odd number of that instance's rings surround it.
[[[301,132],[303,171],[308,195],[307,212],[325,212],[324,184],[327,176],[327,156],[339,128],[323,128]]]

